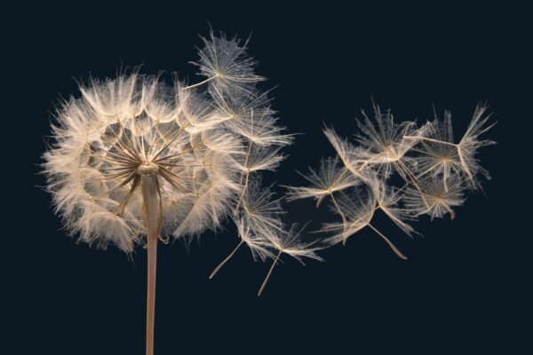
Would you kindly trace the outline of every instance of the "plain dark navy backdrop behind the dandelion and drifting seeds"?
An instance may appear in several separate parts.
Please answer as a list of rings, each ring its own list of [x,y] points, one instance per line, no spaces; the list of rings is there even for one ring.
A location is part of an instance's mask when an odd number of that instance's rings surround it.
[[[377,223],[409,256],[402,261],[370,231],[325,262],[285,258],[263,296],[269,264],[235,247],[235,228],[190,248],[160,247],[155,351],[176,353],[531,353],[530,19],[525,8],[402,4],[20,4],[4,9],[2,337],[5,354],[142,354],[146,256],[76,244],[60,231],[50,196],[37,187],[44,136],[75,79],[118,67],[178,72],[199,80],[195,46],[215,30],[246,38],[269,78],[274,108],[299,132],[266,182],[300,185],[295,170],[333,154],[323,124],[344,136],[373,98],[398,120],[450,109],[457,137],[487,101],[481,151],[493,179],[457,217],[417,223],[411,240]],[[209,23],[208,23],[209,21]],[[7,96],[5,95],[7,93]],[[7,110],[5,110],[7,108]],[[530,154],[529,154],[530,155]],[[277,190],[282,193],[282,189]],[[287,205],[290,220],[331,220],[313,201]],[[7,333],[5,333],[7,329]],[[3,345],[4,346],[4,345]]]

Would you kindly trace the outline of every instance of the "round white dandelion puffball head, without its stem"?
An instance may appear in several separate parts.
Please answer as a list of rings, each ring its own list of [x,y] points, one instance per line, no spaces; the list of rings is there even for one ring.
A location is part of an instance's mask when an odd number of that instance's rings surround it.
[[[239,189],[228,162],[243,145],[216,127],[207,102],[137,74],[94,80],[82,93],[61,108],[57,147],[45,154],[49,188],[70,230],[131,252],[146,235],[140,185],[150,176],[162,232],[199,233],[219,223]]]

